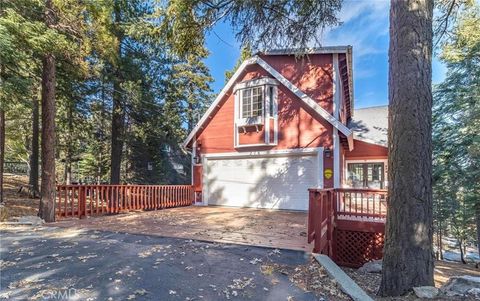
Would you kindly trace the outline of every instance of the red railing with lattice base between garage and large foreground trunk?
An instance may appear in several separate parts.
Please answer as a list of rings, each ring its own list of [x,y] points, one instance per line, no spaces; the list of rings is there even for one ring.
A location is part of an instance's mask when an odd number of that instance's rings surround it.
[[[309,189],[308,242],[344,266],[382,258],[387,191]]]

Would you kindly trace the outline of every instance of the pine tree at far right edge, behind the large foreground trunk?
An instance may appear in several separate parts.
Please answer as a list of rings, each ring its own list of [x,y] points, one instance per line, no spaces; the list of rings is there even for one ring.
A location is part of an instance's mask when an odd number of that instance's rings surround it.
[[[462,255],[466,241],[480,242],[479,32],[480,6],[467,6],[442,45],[447,77],[434,94],[435,202]]]

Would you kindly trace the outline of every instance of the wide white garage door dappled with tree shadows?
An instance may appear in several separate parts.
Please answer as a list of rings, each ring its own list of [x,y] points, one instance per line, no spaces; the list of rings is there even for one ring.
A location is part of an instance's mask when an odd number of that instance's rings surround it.
[[[207,160],[210,205],[308,210],[308,188],[317,187],[316,155]]]

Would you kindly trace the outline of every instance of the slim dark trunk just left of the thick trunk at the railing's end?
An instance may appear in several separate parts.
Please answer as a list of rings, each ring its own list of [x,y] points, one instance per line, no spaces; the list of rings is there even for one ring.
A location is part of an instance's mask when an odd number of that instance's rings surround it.
[[[32,186],[33,197],[38,196],[38,167],[39,167],[39,138],[40,138],[40,124],[39,124],[39,104],[37,98],[37,89],[33,91],[32,103],[32,149],[30,153],[30,174],[28,183]]]

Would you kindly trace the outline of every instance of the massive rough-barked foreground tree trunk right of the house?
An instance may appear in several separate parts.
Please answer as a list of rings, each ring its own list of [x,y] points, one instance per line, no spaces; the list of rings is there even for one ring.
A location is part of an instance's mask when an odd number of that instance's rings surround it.
[[[391,1],[389,204],[379,294],[433,285],[433,0]]]

